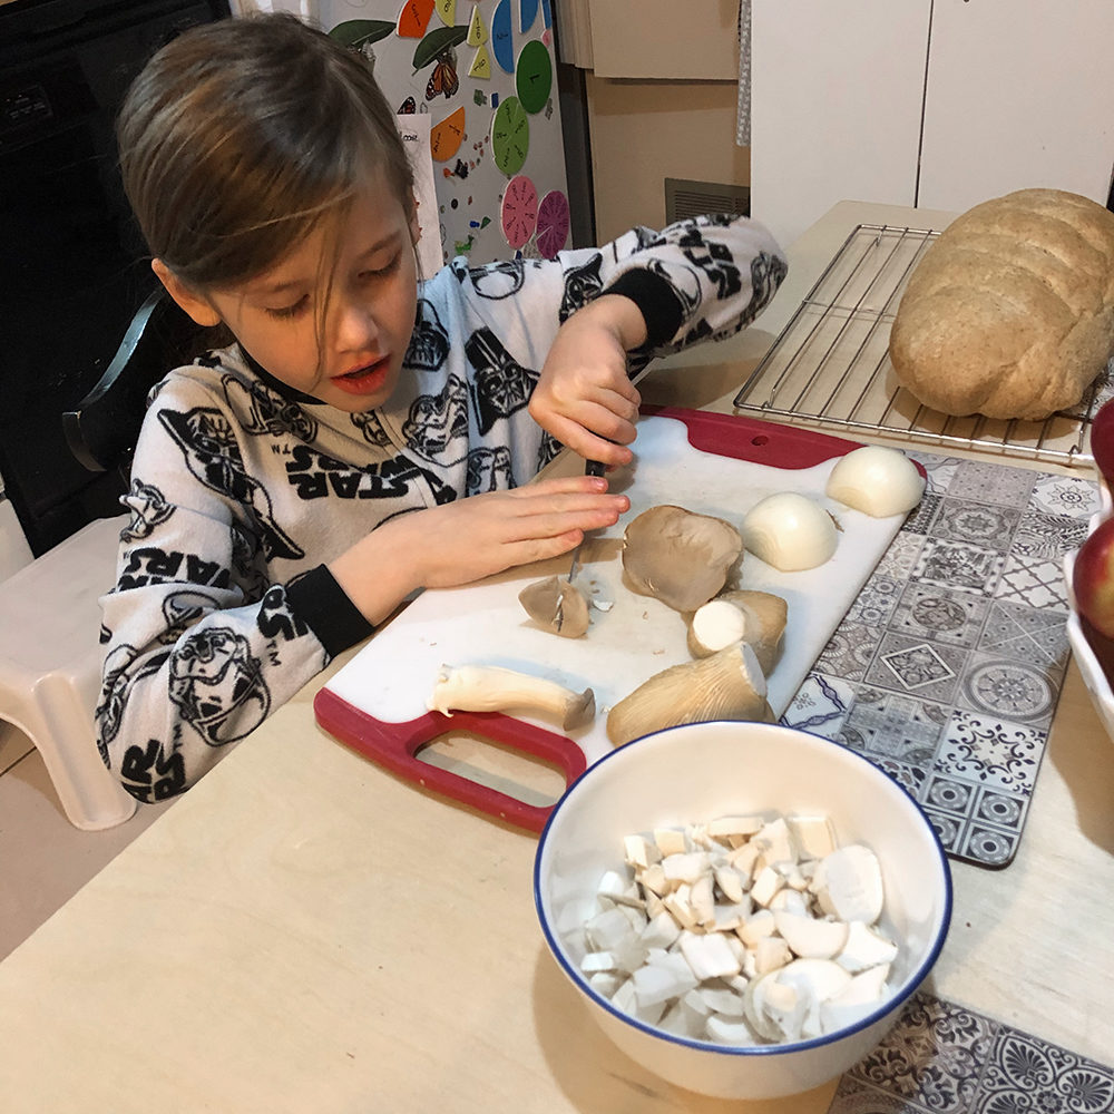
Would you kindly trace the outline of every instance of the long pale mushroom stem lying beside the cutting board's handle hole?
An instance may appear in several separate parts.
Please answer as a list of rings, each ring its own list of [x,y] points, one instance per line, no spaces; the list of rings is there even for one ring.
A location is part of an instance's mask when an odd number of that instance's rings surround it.
[[[595,716],[596,697],[590,688],[578,693],[556,681],[496,665],[442,665],[429,707],[444,715],[528,709],[556,717],[568,731]]]

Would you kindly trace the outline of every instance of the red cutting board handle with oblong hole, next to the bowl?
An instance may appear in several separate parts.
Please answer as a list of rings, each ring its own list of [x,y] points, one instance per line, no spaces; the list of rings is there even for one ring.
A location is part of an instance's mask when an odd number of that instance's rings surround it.
[[[526,831],[540,832],[553,805],[527,804],[509,793],[423,762],[418,752],[446,732],[458,731],[551,763],[564,773],[566,789],[587,769],[584,752],[571,739],[499,712],[455,712],[451,716],[429,712],[407,723],[383,723],[329,688],[321,688],[314,696],[313,711],[325,731],[392,773]]]

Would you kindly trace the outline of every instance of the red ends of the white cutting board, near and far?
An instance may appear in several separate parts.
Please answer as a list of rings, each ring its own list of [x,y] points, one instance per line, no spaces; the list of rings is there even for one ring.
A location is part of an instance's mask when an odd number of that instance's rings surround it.
[[[642,408],[642,413],[646,418],[672,418],[683,422],[688,443],[702,452],[771,468],[812,468],[861,448],[858,441],[829,433],[735,414],[648,405]],[[919,463],[917,469],[925,475]],[[587,769],[584,752],[568,736],[500,712],[456,712],[451,717],[429,712],[404,723],[384,723],[328,687],[322,687],[314,696],[313,711],[317,723],[340,742],[401,778],[536,833],[545,828],[553,805],[527,804],[451,770],[423,762],[417,756],[418,752],[452,730],[555,765],[565,774],[566,789]]]

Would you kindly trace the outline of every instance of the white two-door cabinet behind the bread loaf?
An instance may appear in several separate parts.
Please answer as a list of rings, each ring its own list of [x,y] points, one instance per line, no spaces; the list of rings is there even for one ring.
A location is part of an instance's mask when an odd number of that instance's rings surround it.
[[[1105,204],[1111,0],[752,0],[751,211],[788,244],[839,201]]]

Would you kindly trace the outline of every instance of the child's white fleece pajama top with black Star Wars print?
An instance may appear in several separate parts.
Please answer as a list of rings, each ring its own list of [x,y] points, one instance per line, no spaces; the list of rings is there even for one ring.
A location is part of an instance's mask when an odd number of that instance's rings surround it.
[[[458,258],[419,285],[399,388],[367,413],[292,391],[236,345],[172,371],[152,392],[101,600],[106,764],[140,801],[183,792],[371,633],[324,563],[395,515],[529,481],[560,446],[527,403],[582,305],[635,301],[649,336],[634,369],[737,332],[784,275],[741,217],[553,261]]]

